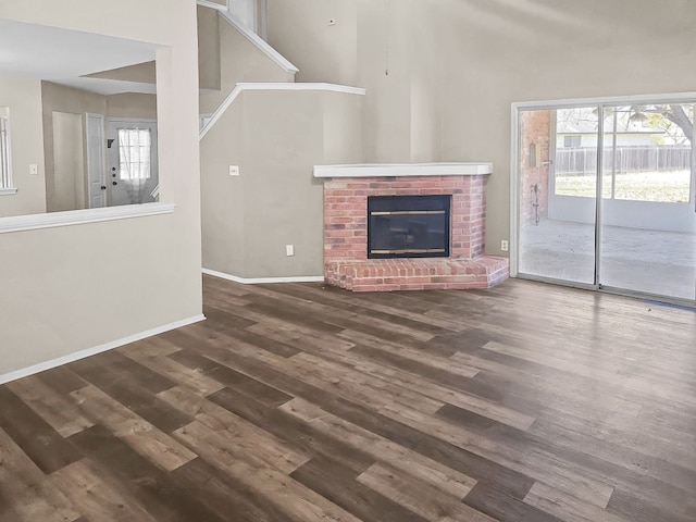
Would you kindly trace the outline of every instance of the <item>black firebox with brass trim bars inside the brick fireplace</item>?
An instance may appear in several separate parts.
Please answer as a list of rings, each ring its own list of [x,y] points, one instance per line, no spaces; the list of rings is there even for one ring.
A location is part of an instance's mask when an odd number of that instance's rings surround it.
[[[368,198],[368,258],[449,257],[451,196]]]

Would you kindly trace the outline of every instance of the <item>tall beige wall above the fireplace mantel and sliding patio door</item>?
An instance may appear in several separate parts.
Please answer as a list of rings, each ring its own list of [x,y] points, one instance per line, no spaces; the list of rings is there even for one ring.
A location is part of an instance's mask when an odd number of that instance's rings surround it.
[[[318,3],[324,18],[353,9],[356,36],[319,24]],[[696,91],[691,0],[270,0],[269,9],[270,41],[303,80],[368,89],[368,160],[494,163],[490,253],[509,235],[512,102]]]

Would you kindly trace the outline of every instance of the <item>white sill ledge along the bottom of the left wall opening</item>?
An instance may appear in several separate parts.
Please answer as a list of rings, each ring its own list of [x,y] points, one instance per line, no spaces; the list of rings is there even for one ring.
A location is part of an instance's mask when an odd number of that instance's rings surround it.
[[[104,207],[101,209],[69,210],[46,214],[16,215],[0,219],[0,234],[12,232],[37,231],[104,221],[145,217],[148,215],[171,214],[174,203],[144,203],[124,204],[121,207]]]

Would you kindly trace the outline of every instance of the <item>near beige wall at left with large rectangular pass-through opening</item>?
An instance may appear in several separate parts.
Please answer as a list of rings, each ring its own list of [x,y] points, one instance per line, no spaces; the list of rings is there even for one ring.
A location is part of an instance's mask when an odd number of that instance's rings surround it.
[[[0,375],[197,316],[201,262],[195,2],[2,2],[0,17],[160,46],[161,200],[176,204],[167,215],[0,234]]]

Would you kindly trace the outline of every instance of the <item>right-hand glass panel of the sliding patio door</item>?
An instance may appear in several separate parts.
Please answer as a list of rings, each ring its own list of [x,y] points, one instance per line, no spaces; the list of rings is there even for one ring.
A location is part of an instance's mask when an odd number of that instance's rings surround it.
[[[604,110],[599,284],[696,298],[694,104]]]

